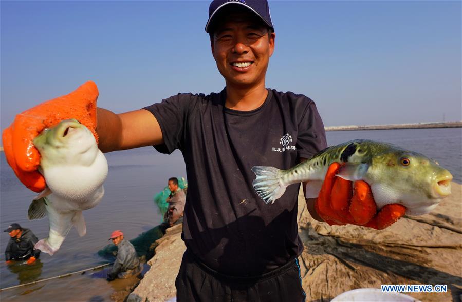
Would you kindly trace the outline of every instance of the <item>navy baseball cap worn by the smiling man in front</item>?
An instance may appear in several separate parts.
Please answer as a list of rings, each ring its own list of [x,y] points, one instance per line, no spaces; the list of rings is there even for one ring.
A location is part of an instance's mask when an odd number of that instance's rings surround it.
[[[271,22],[271,15],[269,14],[269,5],[267,0],[213,0],[209,6],[209,21],[206,24],[206,32],[210,33],[211,24],[215,21],[217,12],[229,5],[241,5],[255,13],[262,19],[273,31],[273,23]]]

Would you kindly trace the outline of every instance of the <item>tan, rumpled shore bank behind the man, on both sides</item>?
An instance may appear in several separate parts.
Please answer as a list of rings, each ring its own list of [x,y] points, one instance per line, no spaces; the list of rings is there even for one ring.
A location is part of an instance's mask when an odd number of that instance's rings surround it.
[[[342,292],[381,284],[445,284],[446,293],[406,293],[422,301],[460,301],[462,294],[462,185],[430,214],[404,217],[376,231],[328,226],[313,220],[299,198],[299,257],[307,301],[329,301]],[[127,297],[160,302],[175,297],[184,243],[181,225],[156,241],[150,270]]]

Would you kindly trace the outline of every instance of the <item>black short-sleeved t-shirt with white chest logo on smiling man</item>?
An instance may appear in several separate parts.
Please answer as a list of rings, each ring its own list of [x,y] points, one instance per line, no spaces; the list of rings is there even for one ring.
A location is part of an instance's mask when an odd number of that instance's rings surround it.
[[[164,144],[159,152],[183,153],[188,194],[182,239],[210,268],[255,276],[303,250],[297,227],[299,186],[274,204],[252,187],[252,166],[288,169],[326,147],[315,103],[304,95],[268,89],[259,108],[225,107],[220,93],[177,94],[144,109],[156,117]]]

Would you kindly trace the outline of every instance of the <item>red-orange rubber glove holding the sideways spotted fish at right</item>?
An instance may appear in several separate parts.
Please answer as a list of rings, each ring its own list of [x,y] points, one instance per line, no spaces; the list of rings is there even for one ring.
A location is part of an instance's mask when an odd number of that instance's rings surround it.
[[[377,230],[391,226],[406,213],[399,204],[389,204],[377,213],[371,187],[363,180],[352,182],[337,177],[341,165],[332,163],[315,202],[315,210],[329,225],[353,224]]]

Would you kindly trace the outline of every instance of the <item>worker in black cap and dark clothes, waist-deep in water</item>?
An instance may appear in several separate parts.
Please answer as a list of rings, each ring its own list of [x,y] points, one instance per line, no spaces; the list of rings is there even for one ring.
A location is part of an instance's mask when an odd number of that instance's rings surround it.
[[[4,232],[8,232],[10,240],[5,250],[6,263],[13,260],[26,261],[27,264],[33,263],[40,256],[40,250],[34,250],[34,246],[39,239],[31,230],[13,223]]]

